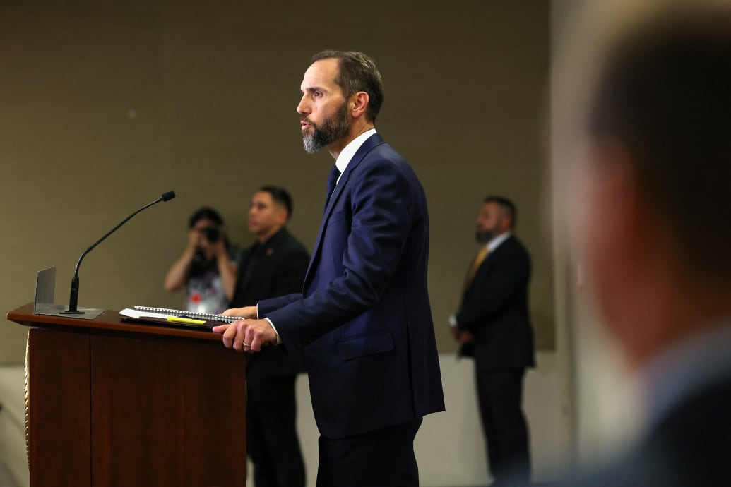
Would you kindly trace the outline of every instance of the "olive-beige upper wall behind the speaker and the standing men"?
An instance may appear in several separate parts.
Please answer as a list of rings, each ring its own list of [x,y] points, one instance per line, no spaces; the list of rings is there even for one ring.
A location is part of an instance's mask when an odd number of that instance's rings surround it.
[[[431,212],[430,291],[439,348],[476,250],[488,193],[511,196],[534,258],[531,312],[552,350],[549,211],[539,126],[549,61],[548,2],[91,1],[0,5],[0,309],[33,300],[35,272],[57,266],[67,302],[80,253],[138,215],[80,270],[83,307],[178,307],[162,277],[186,219],[219,208],[247,244],[246,208],[262,183],[289,188],[290,225],[311,248],[329,156],[301,149],[295,106],[311,54],[374,56],[385,79],[379,131],[411,161]],[[21,361],[22,327],[0,323],[0,362]]]

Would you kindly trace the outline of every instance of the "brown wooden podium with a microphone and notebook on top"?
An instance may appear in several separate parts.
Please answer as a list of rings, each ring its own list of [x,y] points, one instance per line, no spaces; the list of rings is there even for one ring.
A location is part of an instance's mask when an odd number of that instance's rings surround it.
[[[245,357],[209,331],[34,315],[31,486],[246,486]]]

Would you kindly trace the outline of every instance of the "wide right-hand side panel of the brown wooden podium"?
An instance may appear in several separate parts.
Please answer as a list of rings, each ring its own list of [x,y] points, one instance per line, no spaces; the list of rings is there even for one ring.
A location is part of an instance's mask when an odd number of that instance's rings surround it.
[[[246,373],[226,352],[91,337],[94,486],[246,486]]]

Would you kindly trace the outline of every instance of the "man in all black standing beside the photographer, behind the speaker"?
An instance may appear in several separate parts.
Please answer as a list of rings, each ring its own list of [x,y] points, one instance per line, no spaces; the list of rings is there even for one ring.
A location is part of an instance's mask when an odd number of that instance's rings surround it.
[[[284,188],[262,186],[251,197],[249,231],[257,242],[240,259],[231,307],[302,288],[310,256],[287,231],[292,198]],[[304,370],[298,350],[268,347],[246,362],[246,453],[256,487],[304,487],[305,466],[297,437],[295,380]]]

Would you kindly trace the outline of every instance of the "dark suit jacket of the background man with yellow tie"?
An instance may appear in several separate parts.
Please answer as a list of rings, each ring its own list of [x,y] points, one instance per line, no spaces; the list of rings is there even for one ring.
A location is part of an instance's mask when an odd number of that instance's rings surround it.
[[[474,341],[461,355],[474,356],[481,370],[524,369],[534,365],[533,329],[528,312],[531,258],[513,235],[502,242],[474,275],[457,313],[460,329]]]

